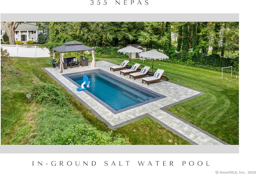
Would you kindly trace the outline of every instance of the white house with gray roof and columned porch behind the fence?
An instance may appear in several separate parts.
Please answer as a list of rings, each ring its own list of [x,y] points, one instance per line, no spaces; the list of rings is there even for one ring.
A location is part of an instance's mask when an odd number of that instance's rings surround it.
[[[28,40],[33,40],[37,42],[38,34],[43,31],[38,30],[38,26],[34,22],[21,23],[15,30],[15,41],[22,41],[26,43]],[[1,41],[4,35],[4,26],[1,24]]]

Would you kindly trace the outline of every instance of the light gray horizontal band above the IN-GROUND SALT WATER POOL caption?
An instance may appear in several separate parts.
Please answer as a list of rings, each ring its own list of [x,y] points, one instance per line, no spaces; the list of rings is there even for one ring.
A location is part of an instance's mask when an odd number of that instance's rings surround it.
[[[238,145],[1,145],[0,153],[239,153]]]

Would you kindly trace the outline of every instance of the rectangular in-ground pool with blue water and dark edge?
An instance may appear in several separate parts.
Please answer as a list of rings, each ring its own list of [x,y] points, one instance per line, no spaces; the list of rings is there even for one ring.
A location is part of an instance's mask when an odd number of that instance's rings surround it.
[[[87,88],[85,85],[87,90],[81,92],[86,92],[114,113],[165,97],[100,69],[64,74],[63,76],[80,87],[83,83],[83,75],[88,77],[90,87]]]

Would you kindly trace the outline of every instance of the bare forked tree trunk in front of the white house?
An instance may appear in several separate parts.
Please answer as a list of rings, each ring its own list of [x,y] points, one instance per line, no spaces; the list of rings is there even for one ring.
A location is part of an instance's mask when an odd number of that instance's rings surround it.
[[[9,38],[10,44],[15,45],[15,30],[20,22],[1,22],[1,24],[4,26],[4,31]]]

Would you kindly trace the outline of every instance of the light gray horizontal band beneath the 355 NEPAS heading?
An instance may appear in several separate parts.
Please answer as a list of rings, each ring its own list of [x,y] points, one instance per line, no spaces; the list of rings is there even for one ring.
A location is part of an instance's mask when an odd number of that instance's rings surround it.
[[[238,22],[239,14],[1,14],[1,21],[16,22]]]

